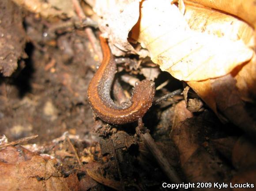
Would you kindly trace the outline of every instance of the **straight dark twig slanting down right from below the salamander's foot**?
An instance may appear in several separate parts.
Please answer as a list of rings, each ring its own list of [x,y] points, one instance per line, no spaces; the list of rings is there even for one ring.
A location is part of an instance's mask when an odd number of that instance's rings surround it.
[[[156,143],[154,142],[154,139],[152,138],[148,130],[144,127],[141,118],[138,120],[138,124],[139,126],[136,128],[136,133],[141,137],[143,142],[146,144],[147,148],[151,151],[152,155],[158,162],[158,165],[160,166],[162,171],[166,173],[166,176],[172,183],[180,184],[180,178],[177,176],[177,173],[169,164],[168,160],[166,159],[162,151],[158,149]]]

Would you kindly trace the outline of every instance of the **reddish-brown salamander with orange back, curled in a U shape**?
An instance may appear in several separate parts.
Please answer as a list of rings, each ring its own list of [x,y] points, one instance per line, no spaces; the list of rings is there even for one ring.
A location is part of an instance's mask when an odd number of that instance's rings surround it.
[[[110,97],[110,91],[117,64],[114,60],[107,40],[100,37],[103,52],[102,64],[92,78],[88,88],[88,99],[91,109],[97,117],[111,124],[125,124],[142,118],[151,107],[155,87],[153,81],[136,82],[132,96],[128,102],[120,106]]]

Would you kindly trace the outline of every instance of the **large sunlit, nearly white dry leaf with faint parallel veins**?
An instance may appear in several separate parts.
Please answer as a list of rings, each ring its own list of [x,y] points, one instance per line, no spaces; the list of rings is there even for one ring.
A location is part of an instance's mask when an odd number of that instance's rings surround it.
[[[161,70],[184,81],[201,81],[230,73],[252,58],[242,40],[192,31],[169,0],[143,1],[138,41]]]

